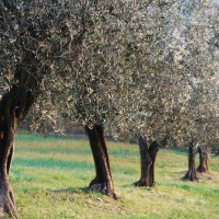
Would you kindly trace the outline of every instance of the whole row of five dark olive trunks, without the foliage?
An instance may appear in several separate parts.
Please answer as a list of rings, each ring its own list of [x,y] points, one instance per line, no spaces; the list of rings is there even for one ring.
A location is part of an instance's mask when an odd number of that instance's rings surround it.
[[[31,76],[28,80],[23,81],[22,74],[26,73],[23,69],[18,70],[16,79],[20,87],[13,85],[0,101],[0,218],[8,214],[11,218],[16,218],[15,204],[12,189],[9,186],[9,169],[13,154],[13,138],[18,125],[25,118],[33,105],[37,93],[37,82]],[[22,77],[22,78],[21,78]],[[117,198],[111,174],[107,148],[104,139],[104,130],[101,125],[95,125],[92,129],[85,127],[95,163],[95,177],[90,183],[90,189]],[[155,184],[154,163],[159,150],[159,143],[153,141],[150,146],[146,137],[139,138],[141,175],[140,180],[135,182],[135,186],[149,186]],[[198,149],[199,166],[197,171],[207,172],[207,155]],[[192,145],[188,149],[188,172],[185,178],[197,181],[195,169],[195,147]]]

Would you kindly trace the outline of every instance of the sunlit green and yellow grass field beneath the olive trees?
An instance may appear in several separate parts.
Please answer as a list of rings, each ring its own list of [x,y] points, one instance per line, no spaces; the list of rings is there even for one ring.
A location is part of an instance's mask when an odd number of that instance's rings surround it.
[[[182,181],[185,151],[160,150],[153,189],[136,188],[139,180],[137,145],[107,142],[118,200],[83,188],[94,177],[88,140],[16,136],[10,183],[21,219],[217,219],[219,218],[219,158],[199,183]]]

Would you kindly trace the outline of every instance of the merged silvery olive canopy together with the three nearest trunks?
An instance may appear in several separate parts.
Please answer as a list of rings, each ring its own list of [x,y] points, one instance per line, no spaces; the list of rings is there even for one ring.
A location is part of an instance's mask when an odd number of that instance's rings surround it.
[[[27,114],[35,129],[83,124],[96,170],[90,187],[114,198],[104,131],[139,136],[136,185],[154,185],[166,141],[216,141],[218,18],[207,0],[0,1],[0,217],[16,218],[9,169]]]

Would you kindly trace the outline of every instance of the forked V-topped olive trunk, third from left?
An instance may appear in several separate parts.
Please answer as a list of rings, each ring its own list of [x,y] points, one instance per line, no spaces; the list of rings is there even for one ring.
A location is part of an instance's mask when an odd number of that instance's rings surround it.
[[[140,137],[139,149],[140,149],[141,175],[140,180],[135,182],[134,185],[153,187],[155,185],[154,164],[155,164],[155,157],[159,150],[158,142],[153,141],[148,148],[146,137]]]

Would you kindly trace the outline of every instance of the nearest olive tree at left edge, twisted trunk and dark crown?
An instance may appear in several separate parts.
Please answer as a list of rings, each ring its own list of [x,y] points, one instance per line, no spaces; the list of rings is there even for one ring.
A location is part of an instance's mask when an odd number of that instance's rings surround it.
[[[9,169],[18,126],[42,95],[44,80],[77,59],[84,8],[79,1],[0,2],[0,217],[16,218]]]

